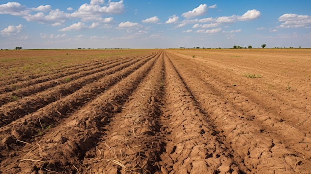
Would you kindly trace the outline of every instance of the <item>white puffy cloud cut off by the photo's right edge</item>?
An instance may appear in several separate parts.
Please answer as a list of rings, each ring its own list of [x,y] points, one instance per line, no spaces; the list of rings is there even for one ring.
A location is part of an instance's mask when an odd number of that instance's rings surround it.
[[[278,20],[279,22],[283,22],[280,25],[282,28],[311,27],[311,16],[308,15],[283,14]]]

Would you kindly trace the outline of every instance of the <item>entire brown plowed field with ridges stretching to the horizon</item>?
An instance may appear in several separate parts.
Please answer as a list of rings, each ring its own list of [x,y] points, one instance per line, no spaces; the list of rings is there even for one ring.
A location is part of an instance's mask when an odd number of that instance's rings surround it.
[[[310,174],[310,53],[0,51],[0,174]]]

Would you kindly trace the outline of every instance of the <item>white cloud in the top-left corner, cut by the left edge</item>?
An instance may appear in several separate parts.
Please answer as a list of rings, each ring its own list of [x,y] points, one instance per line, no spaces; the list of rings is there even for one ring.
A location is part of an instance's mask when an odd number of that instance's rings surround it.
[[[29,14],[30,10],[26,6],[17,2],[8,2],[0,5],[0,14],[10,14],[13,16],[25,16]]]

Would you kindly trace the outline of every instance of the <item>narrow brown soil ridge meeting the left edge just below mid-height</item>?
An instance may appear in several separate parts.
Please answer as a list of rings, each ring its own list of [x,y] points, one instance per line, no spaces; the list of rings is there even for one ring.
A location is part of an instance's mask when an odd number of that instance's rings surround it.
[[[41,83],[36,83],[36,84],[32,84],[31,86],[22,88],[20,86],[16,86],[16,88],[18,88],[15,91],[12,92],[7,92],[4,94],[0,95],[0,105],[3,105],[7,102],[12,102],[14,101],[14,98],[12,98],[12,96],[16,96],[17,98],[21,98],[21,97],[26,97],[29,96],[31,94],[52,88],[54,86],[58,86],[64,83],[68,83],[72,80],[77,80],[81,77],[84,76],[89,76],[92,74],[98,74],[99,72],[103,72],[106,71],[108,69],[111,69],[115,66],[121,65],[121,64],[126,64],[127,62],[130,62],[131,60],[133,60],[134,58],[128,59],[128,60],[123,60],[123,61],[117,61],[114,63],[107,63],[107,64],[101,64],[100,66],[96,66],[96,67],[92,67],[92,68],[85,68],[85,69],[80,69],[79,71],[72,73],[69,76],[64,76],[64,77],[58,77],[55,78],[53,80],[53,78],[51,78],[50,80],[41,82]],[[97,75],[96,75],[97,76]],[[100,77],[100,74],[98,74],[98,76]]]

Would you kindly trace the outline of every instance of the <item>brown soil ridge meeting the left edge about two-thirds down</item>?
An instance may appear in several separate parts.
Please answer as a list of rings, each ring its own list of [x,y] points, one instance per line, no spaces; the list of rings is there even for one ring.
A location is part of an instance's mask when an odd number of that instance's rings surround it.
[[[0,127],[2,127],[5,124],[10,123],[13,120],[16,120],[29,113],[32,113],[48,105],[49,103],[60,100],[61,98],[71,93],[74,93],[75,91],[78,91],[83,86],[85,88],[87,84],[96,82],[98,79],[102,77],[106,77],[106,76],[109,76],[110,74],[117,72],[119,74],[117,77],[122,78],[123,73],[126,72],[125,68],[127,66],[130,66],[131,64],[135,64],[138,61],[139,59],[135,59],[131,62],[124,63],[122,65],[116,66],[106,71],[95,73],[95,74],[92,74],[86,77],[82,77],[78,80],[69,82],[67,84],[59,85],[55,88],[51,88],[49,90],[43,91],[31,97],[22,98],[19,101],[8,103],[7,105],[4,105],[1,107],[0,117],[2,117],[3,119],[2,121],[0,121]],[[141,61],[142,61],[141,63],[144,63],[144,61],[148,61],[148,60],[145,59]],[[124,69],[124,70],[121,71],[121,69]],[[87,98],[90,98],[90,97],[86,97],[86,99]]]

